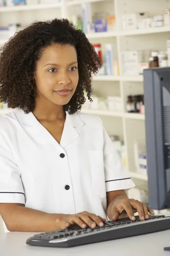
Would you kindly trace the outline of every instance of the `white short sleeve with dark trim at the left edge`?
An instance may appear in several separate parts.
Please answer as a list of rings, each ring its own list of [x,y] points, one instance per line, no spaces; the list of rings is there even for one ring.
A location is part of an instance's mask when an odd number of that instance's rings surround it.
[[[0,203],[25,204],[20,170],[6,140],[0,133]]]

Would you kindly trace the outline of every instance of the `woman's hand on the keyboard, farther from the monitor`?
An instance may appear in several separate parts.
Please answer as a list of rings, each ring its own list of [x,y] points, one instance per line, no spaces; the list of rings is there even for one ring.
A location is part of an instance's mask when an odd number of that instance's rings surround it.
[[[99,227],[103,226],[103,222],[105,221],[105,218],[84,211],[76,214],[62,214],[57,218],[57,226],[59,226],[60,229],[64,229],[71,227],[73,224],[77,224],[82,228],[86,228],[87,225],[91,228],[95,228],[96,225]]]

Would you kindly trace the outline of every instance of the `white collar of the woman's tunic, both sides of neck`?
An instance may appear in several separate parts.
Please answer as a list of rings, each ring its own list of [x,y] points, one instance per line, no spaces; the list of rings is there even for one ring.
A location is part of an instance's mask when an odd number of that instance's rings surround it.
[[[15,109],[14,110],[20,124],[23,127],[38,127],[40,125],[40,122],[36,119],[34,114],[32,112],[26,114],[22,109]],[[68,113],[68,111],[65,111],[66,113],[66,119],[68,118],[72,124],[73,127],[84,125],[84,122],[79,117],[79,114],[76,112],[72,115]]]

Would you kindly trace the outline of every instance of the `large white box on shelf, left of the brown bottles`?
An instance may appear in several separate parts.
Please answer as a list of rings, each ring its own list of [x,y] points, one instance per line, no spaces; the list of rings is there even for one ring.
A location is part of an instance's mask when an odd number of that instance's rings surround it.
[[[137,51],[122,52],[122,74],[123,76],[138,76],[139,61]]]

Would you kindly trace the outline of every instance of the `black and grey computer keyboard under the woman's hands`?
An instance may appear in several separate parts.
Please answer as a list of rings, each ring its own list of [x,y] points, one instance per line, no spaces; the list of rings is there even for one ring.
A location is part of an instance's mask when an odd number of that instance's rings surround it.
[[[91,244],[100,241],[113,240],[128,236],[137,236],[161,230],[170,229],[170,217],[164,215],[149,215],[149,219],[135,221],[122,218],[117,221],[105,221],[104,226],[82,229],[77,224],[71,228],[45,232],[27,239],[26,244],[49,247],[72,247],[82,244]]]

